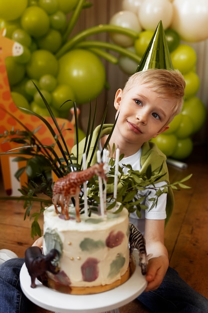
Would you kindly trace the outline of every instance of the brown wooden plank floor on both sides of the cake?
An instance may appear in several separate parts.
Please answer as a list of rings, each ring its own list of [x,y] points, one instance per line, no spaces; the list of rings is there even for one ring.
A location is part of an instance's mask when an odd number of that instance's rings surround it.
[[[165,231],[170,266],[194,289],[208,297],[208,146],[197,146],[186,160],[188,168],[169,165],[170,180],[193,173],[191,189],[175,191],[175,209]],[[2,182],[0,195],[3,195]],[[0,248],[23,257],[30,237],[30,220],[23,220],[22,202],[0,201]],[[42,311],[36,308],[37,311]],[[44,310],[43,310],[44,311]],[[120,308],[121,313],[148,312],[138,301]]]

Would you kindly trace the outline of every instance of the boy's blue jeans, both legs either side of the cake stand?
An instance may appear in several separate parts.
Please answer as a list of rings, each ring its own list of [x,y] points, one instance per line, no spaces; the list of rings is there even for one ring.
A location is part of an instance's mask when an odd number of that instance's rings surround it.
[[[0,265],[0,313],[31,311],[31,302],[19,284],[23,262],[23,258],[12,258]],[[154,313],[208,313],[208,299],[192,289],[170,267],[160,287],[143,292],[138,299]]]

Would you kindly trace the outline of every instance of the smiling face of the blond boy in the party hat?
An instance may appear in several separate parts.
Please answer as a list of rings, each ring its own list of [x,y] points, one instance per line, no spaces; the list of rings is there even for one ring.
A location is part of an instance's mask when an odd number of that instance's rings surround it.
[[[117,130],[127,142],[143,144],[169,128],[171,99],[159,97],[145,85],[133,86],[125,94],[118,89],[114,106],[119,112]]]

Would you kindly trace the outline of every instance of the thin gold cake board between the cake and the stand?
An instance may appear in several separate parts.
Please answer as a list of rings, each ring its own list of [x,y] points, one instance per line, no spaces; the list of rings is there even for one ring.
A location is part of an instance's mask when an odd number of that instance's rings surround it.
[[[75,287],[70,286],[70,284],[61,284],[60,281],[57,281],[56,275],[51,274],[50,272],[47,272],[47,282],[44,282],[44,285],[47,287],[54,289],[59,292],[68,293],[68,294],[93,294],[93,293],[100,293],[107,290],[111,290],[122,283],[126,282],[131,275],[134,273],[136,268],[136,261],[135,258],[132,257],[132,261],[129,264],[129,267],[124,275],[121,276],[121,279],[117,279],[116,281],[105,284],[105,285],[99,285],[99,286],[92,286],[92,287]]]

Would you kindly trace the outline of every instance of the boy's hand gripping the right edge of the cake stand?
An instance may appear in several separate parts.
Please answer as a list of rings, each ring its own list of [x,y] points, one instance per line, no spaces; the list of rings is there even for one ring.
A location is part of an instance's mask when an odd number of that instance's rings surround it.
[[[149,260],[147,265],[146,280],[148,285],[145,291],[157,289],[166,274],[169,266],[169,260],[166,255],[153,257]]]

